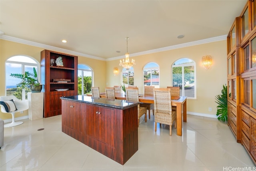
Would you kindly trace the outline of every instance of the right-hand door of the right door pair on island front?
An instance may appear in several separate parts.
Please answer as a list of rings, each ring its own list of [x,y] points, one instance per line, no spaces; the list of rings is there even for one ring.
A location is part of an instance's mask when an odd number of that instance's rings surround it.
[[[99,111],[99,140],[114,147],[115,112],[113,109],[103,107]]]

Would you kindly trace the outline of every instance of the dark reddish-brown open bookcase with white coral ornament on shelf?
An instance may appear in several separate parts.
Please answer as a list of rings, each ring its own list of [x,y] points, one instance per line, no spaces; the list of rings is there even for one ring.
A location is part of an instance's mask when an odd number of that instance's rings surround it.
[[[61,57],[63,66],[50,65]],[[41,84],[44,92],[44,117],[61,114],[60,97],[77,95],[78,57],[50,50],[41,52]]]

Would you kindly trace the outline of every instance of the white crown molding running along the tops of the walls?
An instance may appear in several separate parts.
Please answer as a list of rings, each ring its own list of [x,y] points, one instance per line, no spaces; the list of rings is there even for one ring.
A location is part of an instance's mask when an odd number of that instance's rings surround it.
[[[82,57],[86,57],[86,58],[102,60],[102,61],[120,60],[120,59],[124,58],[124,55],[122,55],[122,56],[117,56],[117,57],[114,57],[114,58],[105,59],[105,58],[100,58],[100,57],[97,57],[97,56],[82,54],[82,53],[79,53],[79,52],[74,52],[74,51],[71,51],[71,50],[57,48],[57,47],[54,47],[54,46],[40,44],[40,43],[36,43],[36,42],[32,42],[32,41],[28,41],[28,40],[24,40],[24,39],[20,39],[20,38],[14,38],[14,37],[11,37],[11,36],[6,36],[6,35],[0,36],[0,39],[8,40],[8,41],[11,41],[11,42],[17,42],[17,43],[21,43],[21,44],[26,44],[26,45],[30,45],[30,46],[36,46],[36,47],[39,47],[39,48],[58,51],[58,52],[66,53],[66,54],[72,54],[72,55],[76,55],[76,56],[82,56]],[[184,43],[184,44],[177,44],[177,45],[174,45],[174,46],[168,46],[168,47],[164,47],[164,48],[158,48],[158,49],[148,50],[148,51],[144,51],[144,52],[138,52],[138,53],[130,54],[130,57],[152,54],[152,53],[157,53],[157,52],[163,52],[163,51],[167,51],[167,50],[174,50],[174,49],[179,49],[179,48],[186,48],[186,47],[189,47],[189,46],[195,46],[195,45],[206,44],[206,43],[211,43],[211,42],[218,42],[218,41],[222,41],[222,40],[226,40],[226,39],[227,39],[227,35],[223,35],[223,36],[218,36],[218,37],[214,37],[214,38],[197,40],[197,41],[194,41],[194,42],[188,42],[188,43]]]

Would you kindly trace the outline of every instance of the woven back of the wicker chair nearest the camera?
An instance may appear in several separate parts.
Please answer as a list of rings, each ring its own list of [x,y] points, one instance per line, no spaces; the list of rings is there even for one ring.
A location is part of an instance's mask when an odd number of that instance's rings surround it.
[[[171,91],[169,88],[154,89],[154,112],[172,114]]]

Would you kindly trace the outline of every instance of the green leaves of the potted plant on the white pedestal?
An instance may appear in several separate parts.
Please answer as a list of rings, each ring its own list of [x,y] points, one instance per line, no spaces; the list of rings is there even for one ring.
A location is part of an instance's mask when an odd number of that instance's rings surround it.
[[[20,78],[21,82],[17,84],[17,87],[26,88],[30,85],[38,86],[40,83],[38,82],[36,68],[33,68],[33,73],[25,72],[25,74],[11,74],[10,76],[14,78]]]

